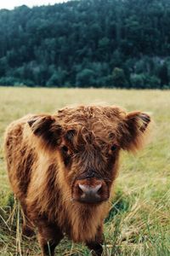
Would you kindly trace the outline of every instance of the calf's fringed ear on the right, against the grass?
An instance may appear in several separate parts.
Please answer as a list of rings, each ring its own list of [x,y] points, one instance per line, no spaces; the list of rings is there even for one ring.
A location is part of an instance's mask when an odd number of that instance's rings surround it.
[[[122,129],[122,148],[137,151],[143,148],[150,130],[150,115],[141,112],[127,113]]]

